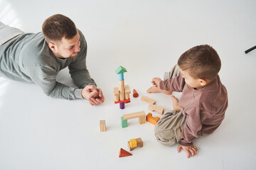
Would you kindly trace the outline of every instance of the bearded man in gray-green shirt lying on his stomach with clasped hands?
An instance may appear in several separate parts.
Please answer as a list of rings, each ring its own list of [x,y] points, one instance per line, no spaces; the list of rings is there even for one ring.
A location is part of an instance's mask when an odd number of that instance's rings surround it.
[[[42,33],[23,33],[0,22],[0,76],[34,82],[54,98],[86,98],[92,106],[103,103],[86,67],[87,44],[70,18],[56,14],[43,23]],[[56,81],[68,67],[78,88]]]

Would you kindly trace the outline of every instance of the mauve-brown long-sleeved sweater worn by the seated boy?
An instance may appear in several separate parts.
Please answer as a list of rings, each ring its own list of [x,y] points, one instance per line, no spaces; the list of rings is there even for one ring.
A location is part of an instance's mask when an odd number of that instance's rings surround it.
[[[202,89],[188,86],[182,76],[161,81],[160,88],[182,92],[178,105],[183,108],[183,115],[186,115],[180,139],[183,146],[192,145],[200,130],[205,135],[213,133],[225,117],[228,92],[219,76]]]

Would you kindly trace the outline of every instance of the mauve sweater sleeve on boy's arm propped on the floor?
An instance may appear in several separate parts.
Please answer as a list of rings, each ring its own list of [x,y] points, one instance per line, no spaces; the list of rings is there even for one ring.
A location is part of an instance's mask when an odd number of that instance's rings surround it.
[[[197,132],[201,130],[200,108],[188,108],[183,111],[186,120],[181,131],[180,144],[183,146],[192,145],[192,141],[198,137]]]

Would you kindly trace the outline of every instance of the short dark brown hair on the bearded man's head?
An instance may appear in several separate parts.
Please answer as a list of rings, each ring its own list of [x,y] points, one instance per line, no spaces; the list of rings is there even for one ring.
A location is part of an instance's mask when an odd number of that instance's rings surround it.
[[[75,23],[61,14],[55,14],[47,18],[43,23],[42,30],[48,43],[59,41],[63,36],[70,40],[78,33]]]

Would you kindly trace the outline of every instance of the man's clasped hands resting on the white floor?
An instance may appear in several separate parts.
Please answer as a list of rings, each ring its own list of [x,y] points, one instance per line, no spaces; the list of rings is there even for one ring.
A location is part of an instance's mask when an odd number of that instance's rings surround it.
[[[87,85],[82,89],[82,98],[86,98],[92,106],[103,103],[105,100],[102,90],[93,85]]]

